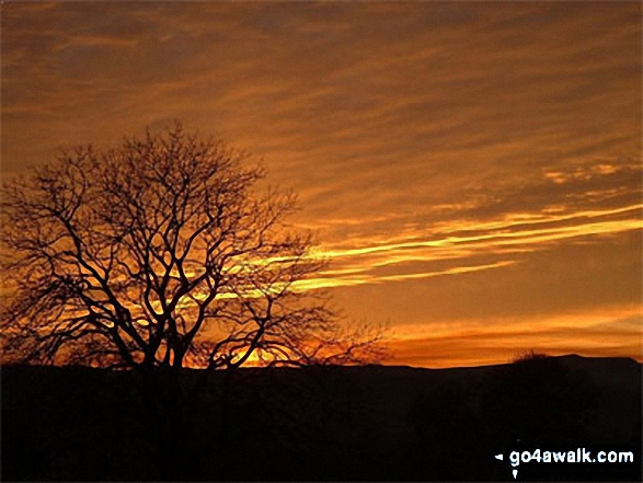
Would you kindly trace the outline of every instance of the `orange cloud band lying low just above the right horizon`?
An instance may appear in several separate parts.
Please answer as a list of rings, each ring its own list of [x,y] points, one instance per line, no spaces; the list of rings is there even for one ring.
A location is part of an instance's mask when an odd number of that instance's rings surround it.
[[[421,367],[452,367],[504,364],[533,349],[552,356],[579,354],[600,357],[632,357],[643,360],[640,308],[612,313],[584,313],[532,321],[496,322],[463,329],[458,324],[406,327],[388,342],[393,356],[389,364]]]

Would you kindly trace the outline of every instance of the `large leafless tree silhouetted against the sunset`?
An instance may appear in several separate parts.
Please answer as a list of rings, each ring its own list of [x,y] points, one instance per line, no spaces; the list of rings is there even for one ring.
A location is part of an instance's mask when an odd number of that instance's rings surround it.
[[[356,363],[378,335],[340,336],[325,266],[285,225],[295,197],[246,156],[186,135],[78,148],[2,189],[7,359],[237,368]]]

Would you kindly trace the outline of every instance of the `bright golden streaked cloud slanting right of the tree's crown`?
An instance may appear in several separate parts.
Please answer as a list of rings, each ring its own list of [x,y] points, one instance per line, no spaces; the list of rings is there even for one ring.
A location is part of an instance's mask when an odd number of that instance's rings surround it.
[[[615,209],[582,210],[567,214],[508,214],[493,221],[452,221],[437,223],[424,237],[416,230],[383,240],[360,240],[361,246],[320,248],[315,256],[326,257],[334,268],[323,278],[307,280],[306,287],[341,287],[358,284],[399,281],[436,275],[468,273],[479,269],[509,266],[515,260],[501,260],[491,264],[462,266],[478,256],[523,254],[543,250],[552,243],[596,235],[618,235],[624,231],[643,228],[643,205]],[[624,218],[621,216],[625,216]],[[617,219],[613,219],[613,218]],[[564,225],[563,225],[564,223]],[[475,233],[475,234],[466,234]],[[437,234],[437,237],[436,237]],[[439,238],[439,235],[446,235]],[[430,238],[427,240],[427,238]],[[370,243],[368,243],[370,242]],[[355,244],[356,241],[349,242]],[[367,244],[368,243],[368,244]],[[411,274],[376,275],[376,268],[404,265],[413,262],[448,261],[450,266],[439,271]],[[418,266],[420,267],[420,266]]]

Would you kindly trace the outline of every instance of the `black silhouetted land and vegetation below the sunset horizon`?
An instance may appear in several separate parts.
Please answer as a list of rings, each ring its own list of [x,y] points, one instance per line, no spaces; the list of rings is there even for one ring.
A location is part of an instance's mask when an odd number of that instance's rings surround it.
[[[2,368],[2,480],[641,480],[641,365],[577,356],[444,370]],[[498,461],[494,455],[503,453]]]

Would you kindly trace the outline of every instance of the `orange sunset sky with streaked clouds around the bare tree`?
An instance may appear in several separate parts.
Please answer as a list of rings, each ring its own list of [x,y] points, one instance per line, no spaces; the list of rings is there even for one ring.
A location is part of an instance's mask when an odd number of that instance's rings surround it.
[[[642,358],[640,2],[1,8],[3,173],[180,119],[299,194],[388,364]]]

